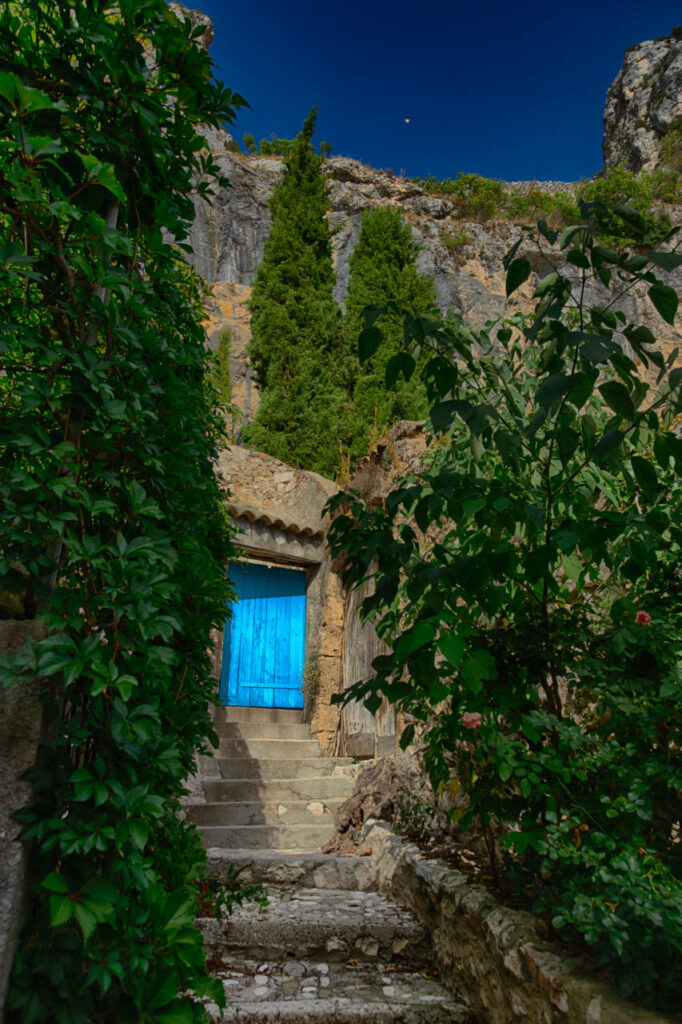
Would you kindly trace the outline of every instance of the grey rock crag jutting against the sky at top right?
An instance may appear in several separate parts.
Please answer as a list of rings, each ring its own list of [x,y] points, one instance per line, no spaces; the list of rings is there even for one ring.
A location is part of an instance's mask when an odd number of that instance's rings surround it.
[[[677,34],[677,32],[676,32]],[[682,32],[632,46],[606,93],[604,166],[651,171],[667,132],[682,117]]]

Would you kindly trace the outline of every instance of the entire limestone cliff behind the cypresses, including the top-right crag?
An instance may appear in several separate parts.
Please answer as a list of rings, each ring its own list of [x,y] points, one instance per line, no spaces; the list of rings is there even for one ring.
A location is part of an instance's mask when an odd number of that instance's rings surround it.
[[[198,12],[191,12],[193,17]],[[205,36],[212,38],[212,29]],[[667,38],[633,47],[608,91],[604,153],[607,166],[628,163],[635,169],[656,164],[659,140],[682,116],[682,40]],[[221,332],[231,333],[230,372],[233,400],[249,422],[258,403],[258,391],[249,367],[248,298],[270,229],[268,200],[283,173],[278,157],[233,152],[224,131],[207,132],[207,139],[230,188],[220,188],[213,204],[197,203],[190,242],[194,262],[211,286],[207,309],[211,344]],[[656,148],[658,146],[658,148]],[[520,226],[510,220],[463,221],[455,202],[427,194],[419,183],[367,167],[356,160],[335,157],[325,164],[329,179],[329,219],[335,229],[336,298],[343,304],[348,289],[348,260],[357,241],[365,210],[385,205],[399,210],[420,246],[419,269],[433,278],[437,304],[455,309],[480,325],[517,309],[531,308],[538,280],[551,271],[538,253],[524,252],[534,274],[508,302],[505,297],[505,253],[518,239]],[[570,191],[568,182],[513,182],[507,187]],[[570,270],[571,268],[569,268]],[[572,272],[578,274],[576,268]],[[682,270],[662,274],[682,291]],[[587,301],[604,295],[593,290]],[[682,342],[682,332],[670,328],[645,296],[634,289],[619,303],[629,319],[644,323],[660,338],[664,350]]]

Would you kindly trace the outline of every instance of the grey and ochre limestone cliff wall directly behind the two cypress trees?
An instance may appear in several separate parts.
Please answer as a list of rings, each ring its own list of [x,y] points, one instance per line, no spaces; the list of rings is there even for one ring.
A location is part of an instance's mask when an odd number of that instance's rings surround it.
[[[270,227],[267,201],[283,170],[278,158],[247,157],[226,148],[229,136],[212,137],[214,156],[231,182],[220,189],[212,207],[201,202],[193,228],[195,262],[211,284],[209,336],[212,344],[228,327],[232,334],[230,371],[233,398],[249,422],[255,413],[258,392],[247,358],[250,286],[262,258]],[[433,276],[437,302],[444,312],[455,309],[470,323],[483,324],[531,308],[538,280],[551,271],[538,253],[525,253],[534,274],[511,300],[505,297],[503,258],[520,233],[509,220],[482,223],[457,218],[454,203],[427,195],[418,184],[366,167],[355,160],[333,158],[327,162],[330,180],[330,221],[336,229],[334,258],[337,271],[336,297],[343,302],[348,287],[348,258],[357,241],[364,210],[386,205],[401,211],[411,224],[421,249],[419,269]],[[550,183],[552,185],[552,183]],[[553,187],[566,187],[557,183]],[[543,183],[543,187],[547,187]],[[458,240],[453,247],[453,239]],[[573,272],[578,271],[573,268]],[[682,291],[682,270],[666,275]],[[603,301],[594,290],[588,301]],[[646,324],[660,338],[664,350],[682,343],[682,332],[670,328],[645,298],[644,289],[635,289],[620,302],[630,319]]]

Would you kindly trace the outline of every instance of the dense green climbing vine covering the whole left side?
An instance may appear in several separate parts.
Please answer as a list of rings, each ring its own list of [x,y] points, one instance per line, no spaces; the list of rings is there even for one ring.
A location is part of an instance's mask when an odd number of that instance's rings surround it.
[[[222,998],[178,811],[232,548],[182,250],[217,170],[198,126],[244,101],[201,31],[164,0],[0,4],[0,586],[47,630],[1,666],[46,716],[18,815],[26,1024],[183,1024]]]

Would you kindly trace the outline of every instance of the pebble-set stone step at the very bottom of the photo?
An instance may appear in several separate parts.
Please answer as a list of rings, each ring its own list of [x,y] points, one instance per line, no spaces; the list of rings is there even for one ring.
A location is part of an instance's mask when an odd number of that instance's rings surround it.
[[[285,964],[227,957],[214,967],[231,1024],[474,1024],[461,1002],[430,977],[380,964]]]

